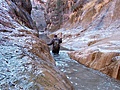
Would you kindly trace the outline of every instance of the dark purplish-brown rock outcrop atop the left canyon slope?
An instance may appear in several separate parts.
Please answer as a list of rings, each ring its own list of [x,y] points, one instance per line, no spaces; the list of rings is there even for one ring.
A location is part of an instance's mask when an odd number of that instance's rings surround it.
[[[10,14],[18,23],[24,24],[25,26],[36,29],[32,18],[30,16],[32,5],[30,0],[6,0],[10,6]],[[26,3],[25,3],[26,2]]]

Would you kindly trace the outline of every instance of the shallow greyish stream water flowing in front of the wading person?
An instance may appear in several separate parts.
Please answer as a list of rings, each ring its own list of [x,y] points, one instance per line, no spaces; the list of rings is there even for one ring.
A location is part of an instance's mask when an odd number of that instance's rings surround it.
[[[67,51],[60,51],[59,55],[53,57],[57,67],[66,74],[75,90],[120,90],[120,81],[70,59]]]

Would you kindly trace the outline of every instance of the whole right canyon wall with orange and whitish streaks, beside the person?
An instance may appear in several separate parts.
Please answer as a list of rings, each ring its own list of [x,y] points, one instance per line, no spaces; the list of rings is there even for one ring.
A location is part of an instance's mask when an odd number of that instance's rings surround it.
[[[62,46],[75,50],[69,52],[72,59],[120,79],[120,0],[75,1],[54,33],[62,36]]]

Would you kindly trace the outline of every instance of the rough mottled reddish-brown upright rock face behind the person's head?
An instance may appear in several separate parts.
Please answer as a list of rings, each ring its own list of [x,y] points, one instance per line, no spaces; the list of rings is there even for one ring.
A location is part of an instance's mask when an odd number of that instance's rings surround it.
[[[46,22],[47,28],[51,32],[59,29],[63,23],[68,21],[73,0],[47,0]]]

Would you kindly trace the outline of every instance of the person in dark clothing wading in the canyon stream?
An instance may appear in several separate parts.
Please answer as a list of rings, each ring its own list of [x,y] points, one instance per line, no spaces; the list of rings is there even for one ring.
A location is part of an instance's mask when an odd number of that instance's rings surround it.
[[[62,43],[62,38],[59,39],[57,37],[57,35],[54,35],[54,38],[52,39],[52,41],[49,44],[47,44],[47,45],[53,45],[52,46],[52,53],[59,54],[60,43]]]

